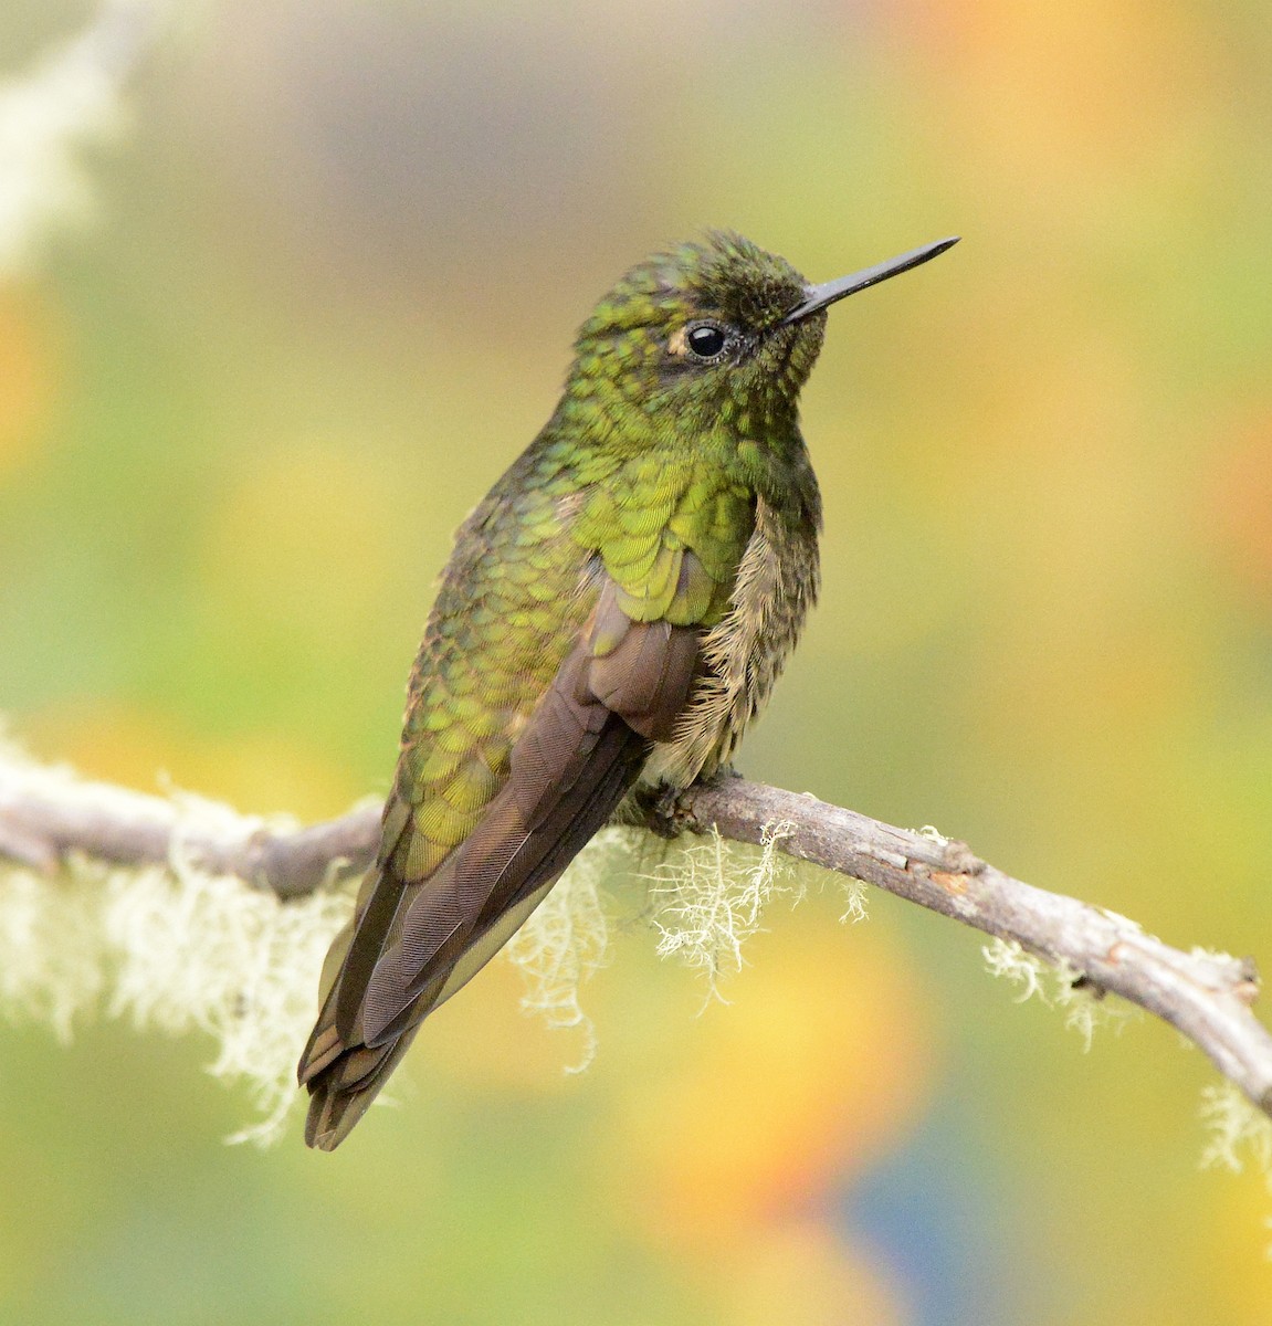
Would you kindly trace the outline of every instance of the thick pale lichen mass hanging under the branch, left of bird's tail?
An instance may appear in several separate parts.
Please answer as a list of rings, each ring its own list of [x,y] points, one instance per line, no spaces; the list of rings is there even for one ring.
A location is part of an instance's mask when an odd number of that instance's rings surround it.
[[[279,1136],[313,1022],[322,956],[351,910],[320,890],[280,902],[191,869],[72,861],[56,878],[0,874],[0,1000],[69,1040],[102,1013],[139,1030],[212,1037],[208,1071],[243,1083],[261,1118],[233,1142]]]

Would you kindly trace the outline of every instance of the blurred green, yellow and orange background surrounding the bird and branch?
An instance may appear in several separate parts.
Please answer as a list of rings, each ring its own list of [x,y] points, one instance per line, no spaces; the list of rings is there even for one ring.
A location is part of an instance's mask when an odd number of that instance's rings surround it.
[[[627,265],[730,225],[820,281],[956,232],[832,316],[825,590],[740,765],[1272,961],[1267,4],[8,0],[0,122],[85,32],[0,137],[0,203],[28,147],[48,191],[0,248],[33,754],[383,793],[451,533]],[[333,1156],[298,1118],[224,1147],[251,1107],[196,1038],[3,1028],[0,1319],[1269,1319],[1196,1052],[1084,1054],[971,932],[841,910],[775,911],[700,1016],[626,935],[581,1077],[495,964]]]

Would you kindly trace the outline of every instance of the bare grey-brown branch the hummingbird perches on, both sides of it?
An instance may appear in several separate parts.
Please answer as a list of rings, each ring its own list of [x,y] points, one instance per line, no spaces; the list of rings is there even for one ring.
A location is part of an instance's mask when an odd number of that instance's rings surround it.
[[[747,843],[776,838],[791,857],[1015,941],[1076,981],[1169,1022],[1272,1116],[1272,1034],[1251,1010],[1259,980],[1248,959],[1186,953],[1114,912],[1012,879],[962,842],[744,778],[692,786],[670,817],[658,804],[645,815],[661,833],[716,829]],[[378,837],[374,806],[294,829],[195,797],[146,796],[0,754],[0,855],[49,874],[70,851],[118,865],[180,857],[297,898],[314,891],[337,862],[366,869]]]

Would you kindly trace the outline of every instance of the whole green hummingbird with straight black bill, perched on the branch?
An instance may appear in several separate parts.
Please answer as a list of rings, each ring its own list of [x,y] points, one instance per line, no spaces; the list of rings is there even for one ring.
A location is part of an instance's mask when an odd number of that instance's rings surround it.
[[[379,853],[300,1061],[309,1146],[348,1136],[638,784],[730,758],[817,597],[798,394],[825,310],[955,243],[809,285],[714,231],[596,306],[556,411],[442,574]]]

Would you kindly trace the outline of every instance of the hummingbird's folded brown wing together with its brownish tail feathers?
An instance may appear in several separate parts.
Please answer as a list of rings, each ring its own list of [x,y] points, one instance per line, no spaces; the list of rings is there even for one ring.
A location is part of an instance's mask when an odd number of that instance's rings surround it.
[[[679,561],[672,585],[700,598],[706,572],[688,549]],[[696,623],[634,621],[602,573],[592,619],[513,744],[505,781],[418,880],[401,878],[399,863],[419,808],[397,794],[374,888],[301,1059],[310,1144],[348,1134],[423,1017],[499,951],[609,819],[650,744],[671,737],[700,639]]]

